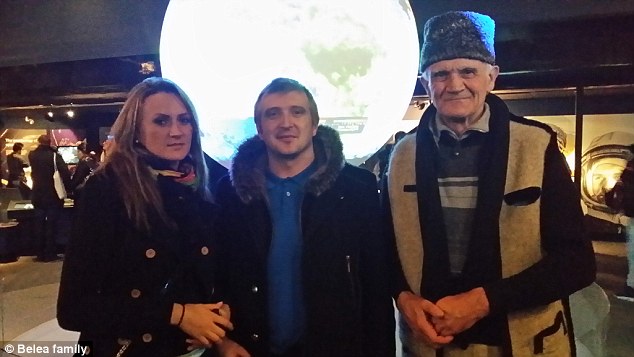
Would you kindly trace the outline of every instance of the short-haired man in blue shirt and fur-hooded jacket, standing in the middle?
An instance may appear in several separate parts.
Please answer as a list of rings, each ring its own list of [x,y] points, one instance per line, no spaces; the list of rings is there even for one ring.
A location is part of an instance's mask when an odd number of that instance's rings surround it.
[[[312,94],[277,78],[258,135],[220,181],[221,284],[236,329],[223,356],[394,356],[375,176],[346,164]]]

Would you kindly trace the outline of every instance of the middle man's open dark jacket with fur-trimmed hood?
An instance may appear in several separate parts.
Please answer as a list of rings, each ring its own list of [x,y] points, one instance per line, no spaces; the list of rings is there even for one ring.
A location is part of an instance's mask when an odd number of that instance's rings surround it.
[[[305,356],[393,356],[394,317],[376,179],[345,163],[337,132],[313,138],[317,170],[302,203]],[[266,193],[267,151],[243,143],[219,183],[224,226],[221,264],[231,337],[252,356],[269,351],[267,257],[272,225]]]

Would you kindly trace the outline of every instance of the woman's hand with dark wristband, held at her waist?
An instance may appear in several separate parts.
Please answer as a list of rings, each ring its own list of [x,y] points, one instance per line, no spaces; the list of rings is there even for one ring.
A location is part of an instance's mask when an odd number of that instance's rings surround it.
[[[179,306],[181,309],[178,309]],[[175,316],[179,317],[176,319]],[[233,330],[229,316],[229,306],[222,302],[215,304],[174,304],[170,322],[177,325],[193,340],[198,341],[198,343],[192,343],[194,347],[209,348],[225,337],[225,330]]]

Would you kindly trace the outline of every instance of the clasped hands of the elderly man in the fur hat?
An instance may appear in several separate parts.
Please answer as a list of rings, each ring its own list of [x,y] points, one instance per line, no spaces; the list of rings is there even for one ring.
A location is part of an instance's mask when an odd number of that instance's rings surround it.
[[[456,334],[489,314],[482,288],[446,296],[435,304],[411,292],[402,292],[397,305],[414,336],[433,348],[449,344]]]

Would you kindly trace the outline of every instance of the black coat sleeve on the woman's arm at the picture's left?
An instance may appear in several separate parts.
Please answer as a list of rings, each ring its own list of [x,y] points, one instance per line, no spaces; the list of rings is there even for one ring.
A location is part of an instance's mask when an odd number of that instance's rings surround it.
[[[109,186],[93,177],[76,204],[57,299],[57,319],[64,329],[116,331],[114,312],[119,307],[104,291],[114,251],[122,239],[115,229],[111,197]]]

